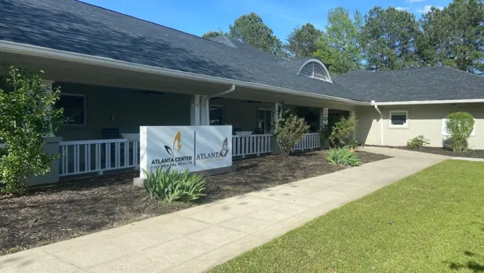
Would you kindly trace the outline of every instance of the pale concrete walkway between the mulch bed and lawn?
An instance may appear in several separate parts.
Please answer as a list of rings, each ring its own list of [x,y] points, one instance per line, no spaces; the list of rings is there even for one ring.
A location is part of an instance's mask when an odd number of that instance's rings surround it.
[[[449,157],[394,156],[0,257],[0,272],[204,272]]]

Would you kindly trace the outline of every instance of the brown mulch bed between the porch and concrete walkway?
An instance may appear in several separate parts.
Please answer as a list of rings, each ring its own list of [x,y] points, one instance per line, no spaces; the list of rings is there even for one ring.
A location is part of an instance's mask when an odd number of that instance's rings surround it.
[[[34,187],[19,198],[0,196],[0,256],[345,169],[326,162],[326,153],[235,161],[236,172],[207,178],[207,196],[197,203],[145,200],[145,189],[133,185],[137,171]],[[363,163],[389,158],[357,153]]]

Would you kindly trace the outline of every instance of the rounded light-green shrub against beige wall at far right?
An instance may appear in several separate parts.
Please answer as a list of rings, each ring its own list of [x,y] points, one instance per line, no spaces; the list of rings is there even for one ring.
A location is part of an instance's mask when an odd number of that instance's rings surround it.
[[[447,115],[446,130],[451,134],[452,150],[462,152],[467,149],[467,139],[474,129],[474,117],[466,112],[454,112]]]

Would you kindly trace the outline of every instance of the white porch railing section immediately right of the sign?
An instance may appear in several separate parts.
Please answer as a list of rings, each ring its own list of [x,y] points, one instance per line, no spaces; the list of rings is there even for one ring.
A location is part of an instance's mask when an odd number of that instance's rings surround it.
[[[232,156],[261,155],[272,153],[272,134],[251,134],[250,136],[232,136]]]

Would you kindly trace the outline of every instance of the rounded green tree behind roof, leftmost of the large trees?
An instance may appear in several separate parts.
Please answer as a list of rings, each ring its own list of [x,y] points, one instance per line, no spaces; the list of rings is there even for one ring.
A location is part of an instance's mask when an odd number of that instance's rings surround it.
[[[256,13],[242,15],[229,26],[229,36],[252,47],[283,56],[282,42]]]

